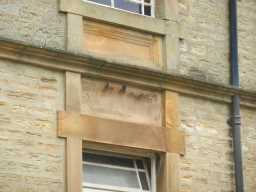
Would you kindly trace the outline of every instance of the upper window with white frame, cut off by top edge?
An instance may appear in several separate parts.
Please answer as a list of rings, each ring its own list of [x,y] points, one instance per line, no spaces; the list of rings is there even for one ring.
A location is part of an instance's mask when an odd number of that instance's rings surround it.
[[[154,0],[83,0],[132,13],[154,16]]]

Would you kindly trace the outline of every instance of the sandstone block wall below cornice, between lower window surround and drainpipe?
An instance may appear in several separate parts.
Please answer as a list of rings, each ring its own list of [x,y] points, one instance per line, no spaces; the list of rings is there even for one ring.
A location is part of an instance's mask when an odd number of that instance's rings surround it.
[[[180,192],[233,192],[232,137],[229,107],[181,97],[181,128],[186,152],[180,162]]]

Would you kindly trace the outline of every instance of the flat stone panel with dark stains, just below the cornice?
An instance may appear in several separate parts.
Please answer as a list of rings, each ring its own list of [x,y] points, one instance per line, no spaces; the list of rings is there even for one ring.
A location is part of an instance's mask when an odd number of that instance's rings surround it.
[[[161,94],[124,86],[84,78],[82,80],[82,113],[161,126]]]

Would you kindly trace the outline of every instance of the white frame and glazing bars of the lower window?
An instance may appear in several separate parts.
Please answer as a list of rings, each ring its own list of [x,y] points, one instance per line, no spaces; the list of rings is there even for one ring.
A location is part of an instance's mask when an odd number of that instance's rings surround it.
[[[83,152],[85,152],[85,151],[83,151]],[[109,164],[103,164],[103,163],[92,163],[92,162],[85,162],[85,161],[83,161],[83,164],[96,165],[98,167],[107,167],[107,168],[135,171],[138,181],[140,181],[139,172],[145,172],[147,182],[150,183],[150,186],[149,186],[149,190],[144,190],[142,188],[140,182],[139,182],[140,189],[83,182],[82,183],[83,192],[106,192],[106,191],[110,191],[110,192],[156,192],[156,157],[155,157],[155,155],[151,155],[150,157],[147,157],[150,159],[150,166],[151,166],[151,168],[150,168],[151,178],[149,178],[149,173],[146,169],[137,168],[136,160],[140,160],[140,159],[142,159],[142,157],[134,157],[134,156],[128,156],[128,155],[116,154],[116,153],[112,154],[112,153],[108,153],[108,152],[105,153],[105,152],[99,152],[99,151],[87,151],[86,150],[86,152],[92,153],[92,154],[113,156],[113,157],[122,157],[122,158],[127,158],[127,159],[133,160],[135,168],[122,167],[122,166],[117,166],[117,165],[109,165]],[[143,161],[143,163],[144,163],[144,167],[146,167],[144,161]],[[150,179],[150,182],[149,182],[149,179]],[[90,187],[90,188],[85,189],[85,187]]]

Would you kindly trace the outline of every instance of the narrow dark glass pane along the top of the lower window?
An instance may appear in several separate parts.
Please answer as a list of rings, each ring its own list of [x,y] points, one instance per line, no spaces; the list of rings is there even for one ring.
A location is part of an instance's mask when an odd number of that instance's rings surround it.
[[[83,161],[92,162],[92,163],[103,163],[109,165],[117,165],[123,167],[134,167],[133,160],[122,158],[122,157],[113,157],[107,155],[98,155],[92,153],[83,153]]]

